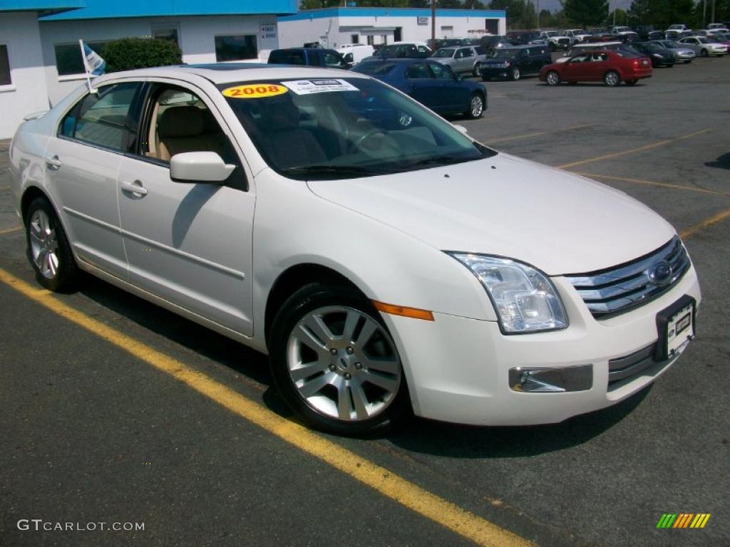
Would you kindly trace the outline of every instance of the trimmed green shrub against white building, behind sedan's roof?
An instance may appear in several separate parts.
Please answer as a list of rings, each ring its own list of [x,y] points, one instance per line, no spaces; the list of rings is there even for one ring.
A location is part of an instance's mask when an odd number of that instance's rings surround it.
[[[179,65],[183,52],[170,40],[120,38],[104,45],[101,57],[107,61],[107,72],[145,69],[148,66]]]

